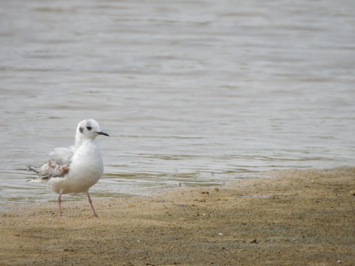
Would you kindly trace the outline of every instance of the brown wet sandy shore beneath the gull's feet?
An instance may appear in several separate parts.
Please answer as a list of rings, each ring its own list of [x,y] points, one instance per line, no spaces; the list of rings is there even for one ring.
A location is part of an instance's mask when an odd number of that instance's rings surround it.
[[[0,265],[353,265],[355,167],[264,172],[220,187],[13,206]]]

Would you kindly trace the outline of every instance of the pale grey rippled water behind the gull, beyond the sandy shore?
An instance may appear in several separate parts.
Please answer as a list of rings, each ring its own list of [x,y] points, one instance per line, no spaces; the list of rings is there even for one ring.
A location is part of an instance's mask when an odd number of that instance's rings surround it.
[[[93,198],[354,166],[355,2],[5,0],[0,205],[97,120]],[[63,200],[84,196],[63,196]]]

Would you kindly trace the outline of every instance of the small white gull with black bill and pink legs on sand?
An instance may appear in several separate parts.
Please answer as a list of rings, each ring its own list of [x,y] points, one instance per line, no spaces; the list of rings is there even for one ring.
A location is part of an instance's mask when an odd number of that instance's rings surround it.
[[[27,182],[41,182],[53,192],[59,194],[59,216],[62,215],[60,203],[62,194],[86,193],[94,211],[93,217],[98,217],[89,195],[91,188],[104,172],[104,163],[95,138],[98,135],[109,136],[102,132],[99,124],[93,119],[81,121],[76,128],[75,145],[68,148],[56,148],[50,159],[39,167],[27,165],[38,174]]]

